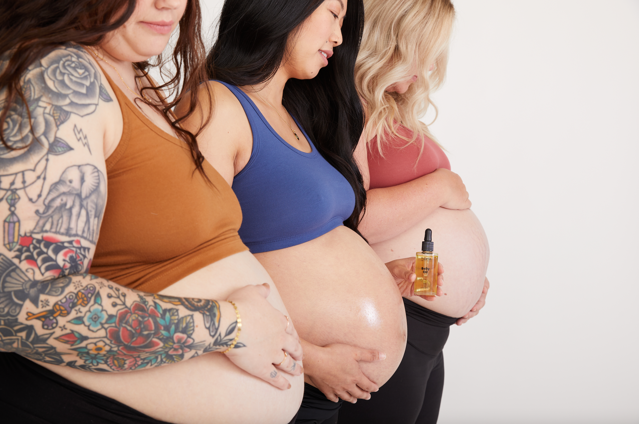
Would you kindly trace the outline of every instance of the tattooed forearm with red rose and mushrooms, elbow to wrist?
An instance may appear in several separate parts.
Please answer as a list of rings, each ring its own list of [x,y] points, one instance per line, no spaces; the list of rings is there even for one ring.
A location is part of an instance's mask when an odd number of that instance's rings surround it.
[[[88,274],[30,287],[13,292],[24,302],[0,319],[13,332],[3,334],[0,351],[85,371],[125,372],[224,351],[236,335],[235,309],[227,301],[161,296]]]

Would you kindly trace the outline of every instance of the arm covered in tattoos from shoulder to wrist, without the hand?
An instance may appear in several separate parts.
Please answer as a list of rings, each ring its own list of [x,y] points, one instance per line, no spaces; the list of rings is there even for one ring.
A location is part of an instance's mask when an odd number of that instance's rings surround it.
[[[59,47],[31,64],[21,84],[24,100],[0,92],[8,110],[0,351],[121,372],[226,349],[236,331],[226,302],[148,294],[87,273],[107,201],[105,133],[121,121],[93,59],[77,45]]]

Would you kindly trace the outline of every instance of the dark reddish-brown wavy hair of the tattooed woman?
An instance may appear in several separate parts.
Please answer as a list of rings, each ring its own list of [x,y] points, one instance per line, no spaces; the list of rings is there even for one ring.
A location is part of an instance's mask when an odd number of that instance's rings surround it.
[[[73,42],[85,46],[99,45],[107,33],[127,22],[135,10],[137,0],[20,0],[0,2],[0,60],[8,60],[0,74],[0,93],[10,105],[17,97],[26,103],[20,88],[20,77],[27,67],[60,45]],[[164,119],[173,127],[178,136],[190,148],[196,169],[204,176],[202,163],[204,156],[197,148],[196,135],[184,128],[180,122],[187,119],[197,107],[199,89],[206,89],[209,101],[211,93],[200,83],[207,80],[204,70],[206,50],[201,37],[201,11],[198,0],[189,0],[180,19],[180,35],[173,50],[172,62],[176,70],[173,77],[158,87],[143,87],[156,91],[159,98],[166,98],[164,90],[178,91],[173,100],[157,107]],[[162,55],[157,56],[157,66],[162,73],[166,63]],[[151,64],[148,61],[135,63],[144,77]],[[181,86],[180,86],[181,82]],[[173,94],[173,93],[171,93]],[[169,94],[169,98],[171,96]],[[182,100],[189,100],[189,108],[179,119],[171,119],[171,109]],[[0,123],[4,123],[8,107],[0,112]],[[212,110],[209,108],[209,110]],[[28,111],[27,111],[28,112]],[[210,116],[210,115],[209,115]],[[208,122],[204,119],[203,125]],[[32,128],[33,131],[33,128]],[[0,131],[0,141],[7,149],[14,149],[4,139]]]

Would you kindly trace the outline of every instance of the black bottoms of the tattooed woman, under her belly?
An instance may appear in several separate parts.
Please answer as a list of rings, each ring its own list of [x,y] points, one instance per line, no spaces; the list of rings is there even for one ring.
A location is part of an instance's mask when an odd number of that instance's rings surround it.
[[[0,352],[0,409],[12,423],[168,424],[78,386],[15,353]],[[3,421],[4,422],[4,421]]]

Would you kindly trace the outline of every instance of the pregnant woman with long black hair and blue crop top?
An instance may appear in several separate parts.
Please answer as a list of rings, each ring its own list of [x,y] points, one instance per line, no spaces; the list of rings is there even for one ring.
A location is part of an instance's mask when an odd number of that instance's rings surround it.
[[[397,284],[357,232],[362,25],[357,0],[227,0],[208,57],[215,112],[198,142],[232,184],[240,236],[303,340],[297,422],[336,422],[338,397],[369,398],[406,344]]]

